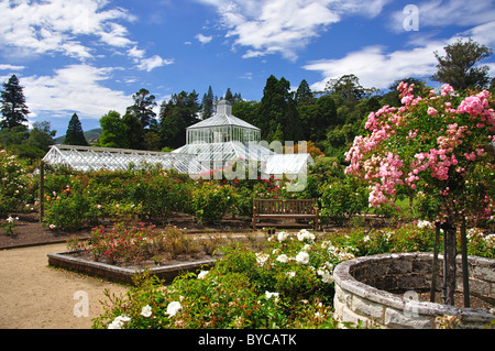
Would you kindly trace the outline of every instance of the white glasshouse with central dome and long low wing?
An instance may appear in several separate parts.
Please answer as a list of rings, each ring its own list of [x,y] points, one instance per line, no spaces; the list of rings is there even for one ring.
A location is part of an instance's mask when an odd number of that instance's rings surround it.
[[[260,162],[264,175],[277,176],[305,173],[307,165],[312,164],[308,153],[284,154],[280,143],[268,145],[261,141],[260,135],[258,128],[232,116],[229,101],[220,100],[217,113],[188,127],[186,145],[173,152],[53,145],[43,161],[84,172],[128,169],[130,165],[142,163],[160,164],[164,168],[195,175],[222,169],[239,161]]]

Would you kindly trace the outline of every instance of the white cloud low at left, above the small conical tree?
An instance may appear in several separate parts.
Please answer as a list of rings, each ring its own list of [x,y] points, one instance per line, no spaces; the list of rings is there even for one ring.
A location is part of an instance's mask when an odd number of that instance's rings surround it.
[[[124,112],[132,105],[132,97],[101,85],[111,78],[113,69],[80,64],[57,69],[53,76],[22,77],[32,117],[46,112],[66,117],[70,111],[99,119],[109,110]]]

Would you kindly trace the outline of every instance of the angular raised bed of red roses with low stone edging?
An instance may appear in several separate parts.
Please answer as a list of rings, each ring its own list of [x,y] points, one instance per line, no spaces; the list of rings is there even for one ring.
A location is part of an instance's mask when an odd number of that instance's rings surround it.
[[[246,240],[254,243],[256,238]],[[222,235],[194,237],[172,227],[157,230],[144,223],[117,223],[110,229],[94,228],[87,241],[73,237],[67,252],[48,254],[48,264],[118,283],[132,284],[143,271],[172,282],[180,274],[212,266],[226,241]]]

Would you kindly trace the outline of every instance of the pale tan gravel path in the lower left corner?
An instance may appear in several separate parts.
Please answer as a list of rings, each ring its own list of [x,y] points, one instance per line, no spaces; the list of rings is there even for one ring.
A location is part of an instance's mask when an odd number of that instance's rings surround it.
[[[65,250],[63,243],[0,251],[0,329],[89,329],[105,288],[125,294],[125,286],[50,267],[46,255]]]

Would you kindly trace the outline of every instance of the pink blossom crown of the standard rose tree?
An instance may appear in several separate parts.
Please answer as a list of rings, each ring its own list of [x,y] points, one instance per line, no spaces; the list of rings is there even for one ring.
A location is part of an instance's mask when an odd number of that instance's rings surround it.
[[[397,89],[403,106],[399,109],[385,106],[371,112],[365,123],[371,133],[356,136],[345,153],[350,162],[345,174],[358,175],[370,183],[370,206],[386,204],[400,185],[416,189],[424,176],[448,180],[450,174],[465,175],[470,168],[468,163],[485,155],[480,145],[486,142],[474,138],[477,131],[482,131],[483,138],[486,138],[485,128],[495,131],[495,113],[490,106],[492,96],[486,90],[468,96],[453,108],[460,99],[449,85],[442,86],[438,96],[431,90],[427,98],[415,97],[414,85],[400,83]],[[437,125],[443,121],[447,128],[429,130],[425,122],[421,124],[417,113],[421,107],[426,108],[430,119],[437,119]],[[472,118],[471,122],[466,123],[463,113]],[[493,141],[493,135],[487,136]],[[429,151],[424,150],[425,142],[431,143]],[[392,145],[398,149],[391,149]],[[402,160],[400,155],[409,156]],[[446,189],[440,188],[440,191],[449,194]]]

